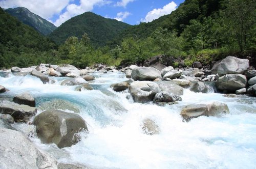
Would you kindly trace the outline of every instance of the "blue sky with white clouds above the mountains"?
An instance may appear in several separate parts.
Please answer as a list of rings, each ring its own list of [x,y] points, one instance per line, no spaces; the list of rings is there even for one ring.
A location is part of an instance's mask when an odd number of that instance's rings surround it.
[[[134,25],[169,14],[183,2],[184,0],[0,0],[0,6],[28,8],[56,26],[88,11]]]

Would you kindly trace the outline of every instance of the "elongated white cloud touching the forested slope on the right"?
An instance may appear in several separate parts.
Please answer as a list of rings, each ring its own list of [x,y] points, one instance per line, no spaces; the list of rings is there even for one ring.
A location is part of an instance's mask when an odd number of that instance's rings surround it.
[[[142,22],[151,22],[154,19],[158,19],[163,15],[170,14],[174,10],[176,10],[177,4],[171,2],[165,5],[163,8],[153,9],[152,11],[148,12],[145,19],[141,19]]]

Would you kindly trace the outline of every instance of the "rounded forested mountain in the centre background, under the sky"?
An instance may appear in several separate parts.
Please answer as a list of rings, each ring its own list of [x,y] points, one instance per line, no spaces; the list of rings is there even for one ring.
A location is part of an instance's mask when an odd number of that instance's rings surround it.
[[[107,19],[92,12],[86,12],[62,23],[50,34],[50,38],[57,44],[62,44],[68,37],[81,38],[84,33],[87,33],[94,46],[104,46],[130,26],[115,19]]]

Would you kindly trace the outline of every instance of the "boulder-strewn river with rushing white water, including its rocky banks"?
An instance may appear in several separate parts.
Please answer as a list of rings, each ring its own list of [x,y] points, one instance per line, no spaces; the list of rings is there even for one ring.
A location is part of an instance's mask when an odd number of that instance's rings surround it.
[[[253,168],[255,70],[194,65],[1,70],[0,168]]]

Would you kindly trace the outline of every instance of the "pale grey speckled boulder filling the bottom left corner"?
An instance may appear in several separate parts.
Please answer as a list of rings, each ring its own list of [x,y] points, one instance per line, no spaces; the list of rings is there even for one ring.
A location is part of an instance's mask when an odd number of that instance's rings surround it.
[[[52,168],[57,161],[39,150],[23,133],[0,128],[0,168]]]

